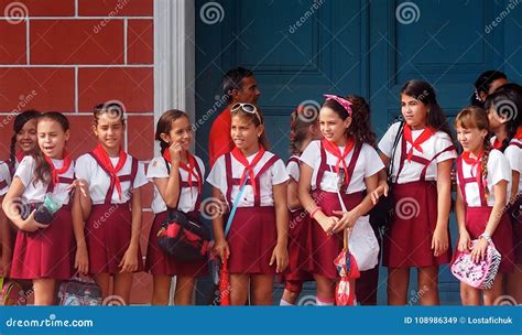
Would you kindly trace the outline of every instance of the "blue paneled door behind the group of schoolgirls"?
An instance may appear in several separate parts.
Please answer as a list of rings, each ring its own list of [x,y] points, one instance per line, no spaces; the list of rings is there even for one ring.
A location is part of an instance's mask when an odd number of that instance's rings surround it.
[[[196,0],[196,117],[204,120],[197,154],[207,161],[211,121],[225,108],[219,83],[229,68],[254,72],[272,151],[286,159],[292,109],[320,104],[324,93],[366,97],[380,137],[400,112],[407,79],[432,83],[450,118],[468,104],[481,72],[500,69],[522,82],[521,26],[514,1]],[[452,226],[455,246],[454,219]],[[446,267],[439,281],[442,303],[459,303]],[[384,269],[379,303],[385,303]]]

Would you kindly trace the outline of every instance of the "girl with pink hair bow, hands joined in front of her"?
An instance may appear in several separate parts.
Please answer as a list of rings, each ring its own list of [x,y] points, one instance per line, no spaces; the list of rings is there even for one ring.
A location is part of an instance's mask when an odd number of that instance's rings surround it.
[[[312,218],[306,268],[317,282],[317,305],[334,304],[338,279],[334,260],[342,250],[344,230],[356,225],[371,230],[367,213],[373,203],[365,193],[374,191],[384,168],[373,149],[369,109],[357,108],[363,99],[325,97],[319,111],[324,139],[312,141],[301,155],[298,183],[301,203]],[[348,212],[341,210],[338,192]],[[378,252],[377,240],[374,248]]]

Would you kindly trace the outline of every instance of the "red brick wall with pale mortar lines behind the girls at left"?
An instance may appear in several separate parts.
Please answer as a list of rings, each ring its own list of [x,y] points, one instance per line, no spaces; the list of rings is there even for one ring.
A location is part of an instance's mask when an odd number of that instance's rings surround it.
[[[72,122],[76,158],[96,144],[91,110],[119,100],[128,112],[128,151],[153,155],[153,0],[0,0],[0,159],[9,154],[13,114],[56,110]],[[143,197],[151,203],[152,187]],[[142,249],[151,213],[144,213]],[[149,302],[150,278],[135,277],[133,302]]]

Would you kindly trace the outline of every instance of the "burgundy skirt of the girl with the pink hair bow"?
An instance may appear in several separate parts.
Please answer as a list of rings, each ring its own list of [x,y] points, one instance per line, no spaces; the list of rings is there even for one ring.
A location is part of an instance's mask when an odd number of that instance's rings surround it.
[[[362,193],[341,194],[341,196],[348,210],[355,208],[363,199]],[[316,190],[313,192],[313,197],[327,216],[336,216],[333,210],[341,210],[337,193]],[[314,274],[337,279],[338,272],[334,260],[342,251],[342,231],[327,236],[316,220],[309,221],[308,257],[305,269]]]

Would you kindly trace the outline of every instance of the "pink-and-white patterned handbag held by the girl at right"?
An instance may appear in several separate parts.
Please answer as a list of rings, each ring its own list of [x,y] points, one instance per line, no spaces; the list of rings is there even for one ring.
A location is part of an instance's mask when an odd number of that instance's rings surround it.
[[[475,247],[478,240],[471,241]],[[486,259],[479,262],[471,260],[471,253],[469,251],[458,251],[455,255],[455,260],[452,263],[452,273],[461,282],[476,288],[476,289],[491,289],[494,282],[494,277],[499,271],[500,256],[493,242],[488,244],[486,250]]]

